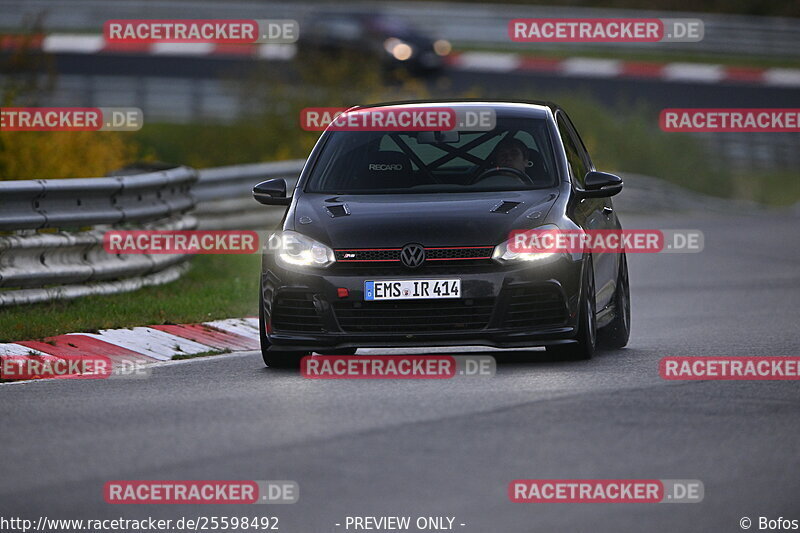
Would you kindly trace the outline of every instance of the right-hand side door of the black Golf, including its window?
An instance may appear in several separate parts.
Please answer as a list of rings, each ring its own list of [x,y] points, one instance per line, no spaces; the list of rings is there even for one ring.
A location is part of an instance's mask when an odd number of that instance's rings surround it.
[[[592,160],[567,114],[559,110],[556,121],[564,143],[573,188],[583,188],[586,174],[594,170]],[[618,227],[611,198],[583,198],[575,206],[574,216],[575,222],[586,230],[610,230]],[[614,297],[618,256],[619,254],[604,252],[592,254],[598,310],[607,307]]]

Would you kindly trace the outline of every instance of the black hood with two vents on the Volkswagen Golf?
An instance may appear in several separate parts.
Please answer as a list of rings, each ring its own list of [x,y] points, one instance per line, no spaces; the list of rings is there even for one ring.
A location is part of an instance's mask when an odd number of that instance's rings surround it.
[[[297,199],[293,228],[289,229],[333,248],[400,247],[408,243],[426,247],[489,246],[506,240],[513,229],[541,225],[557,196],[556,189],[339,196],[303,193]],[[345,209],[349,214],[344,214]]]

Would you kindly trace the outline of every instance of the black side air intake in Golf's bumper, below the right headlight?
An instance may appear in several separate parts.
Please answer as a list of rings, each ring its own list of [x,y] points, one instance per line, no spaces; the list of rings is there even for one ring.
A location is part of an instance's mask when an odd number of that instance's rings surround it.
[[[567,306],[558,287],[518,287],[511,291],[503,327],[561,326],[566,321]]]

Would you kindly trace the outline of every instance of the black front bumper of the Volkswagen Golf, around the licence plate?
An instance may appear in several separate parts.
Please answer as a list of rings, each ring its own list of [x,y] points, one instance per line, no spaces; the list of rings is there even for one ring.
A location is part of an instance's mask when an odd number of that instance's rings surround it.
[[[289,269],[264,256],[261,287],[272,349],[316,351],[575,342],[583,263],[339,272]],[[458,300],[364,302],[365,280],[461,279]],[[338,289],[347,289],[346,298]]]

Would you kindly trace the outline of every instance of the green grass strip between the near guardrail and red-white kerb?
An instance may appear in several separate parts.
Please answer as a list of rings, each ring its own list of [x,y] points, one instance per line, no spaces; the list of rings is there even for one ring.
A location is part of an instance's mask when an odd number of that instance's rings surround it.
[[[0,309],[0,342],[258,314],[260,256],[199,255],[179,280],[132,293]]]

